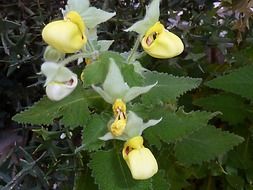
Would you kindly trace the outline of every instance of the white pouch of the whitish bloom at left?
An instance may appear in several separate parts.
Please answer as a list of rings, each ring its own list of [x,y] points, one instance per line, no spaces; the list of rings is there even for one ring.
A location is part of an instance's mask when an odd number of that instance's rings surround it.
[[[59,101],[68,96],[77,86],[77,76],[74,74],[66,82],[50,82],[46,87],[47,97],[52,101]]]

